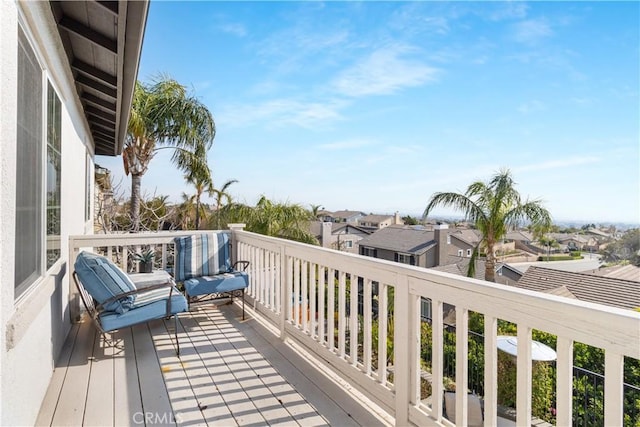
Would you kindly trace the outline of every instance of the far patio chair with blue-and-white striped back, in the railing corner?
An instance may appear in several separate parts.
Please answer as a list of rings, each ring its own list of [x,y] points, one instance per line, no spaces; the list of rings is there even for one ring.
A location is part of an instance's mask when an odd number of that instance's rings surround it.
[[[184,285],[189,307],[191,303],[222,298],[225,295],[242,298],[244,320],[244,291],[249,286],[246,269],[249,261],[231,264],[229,233],[213,232],[176,237],[176,282]],[[237,267],[241,266],[242,270]]]

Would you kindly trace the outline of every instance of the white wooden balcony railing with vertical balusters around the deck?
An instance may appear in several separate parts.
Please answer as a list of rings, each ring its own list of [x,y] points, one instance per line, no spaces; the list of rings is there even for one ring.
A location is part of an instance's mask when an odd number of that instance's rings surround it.
[[[69,264],[72,269],[81,249],[100,248],[109,255],[117,254],[126,268],[131,265],[129,260],[135,248],[151,246],[160,253],[156,267],[166,269],[171,265],[173,238],[193,233],[73,236],[69,242]],[[486,426],[497,422],[498,319],[515,323],[518,330],[517,425],[531,425],[533,329],[557,335],[557,425],[570,425],[572,421],[573,343],[576,341],[604,349],[605,425],[623,424],[623,362],[625,356],[640,358],[640,313],[246,231],[234,230],[232,236],[234,259],[251,262],[247,302],[279,330],[282,339],[303,345],[350,385],[395,416],[396,425],[451,425],[443,418],[441,398],[436,399],[438,404],[431,405],[430,398],[420,394],[421,298],[432,301],[432,396],[442,396],[444,391],[443,306],[446,303],[456,308],[457,390],[466,390],[468,383],[469,312],[484,315]],[[331,286],[335,283],[337,285]],[[358,306],[360,284],[363,308],[359,316],[358,309],[351,308]],[[74,301],[73,291],[70,293],[70,311],[74,316],[78,301]],[[373,308],[374,301],[377,310]],[[374,319],[375,312],[377,319]],[[392,354],[387,354],[387,339],[393,342]],[[463,393],[457,393],[456,425],[466,424],[468,408],[464,397]]]

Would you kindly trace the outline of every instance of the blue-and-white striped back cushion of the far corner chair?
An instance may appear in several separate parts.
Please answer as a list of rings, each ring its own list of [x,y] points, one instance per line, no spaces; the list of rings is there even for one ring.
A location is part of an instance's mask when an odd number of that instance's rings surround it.
[[[228,233],[207,233],[176,237],[175,279],[213,276],[231,270]]]

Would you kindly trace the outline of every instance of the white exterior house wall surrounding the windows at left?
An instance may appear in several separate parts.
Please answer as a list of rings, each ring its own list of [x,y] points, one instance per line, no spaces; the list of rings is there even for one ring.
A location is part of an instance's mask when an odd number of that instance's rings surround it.
[[[62,174],[61,259],[16,300],[18,22],[62,103]],[[87,124],[79,110],[73,81],[69,80],[70,71],[64,67],[64,51],[54,28],[48,2],[0,2],[0,425],[35,423],[70,328],[68,236],[84,234],[92,224],[91,219],[85,220]],[[91,164],[89,168],[92,173]],[[92,200],[90,197],[91,203]]]

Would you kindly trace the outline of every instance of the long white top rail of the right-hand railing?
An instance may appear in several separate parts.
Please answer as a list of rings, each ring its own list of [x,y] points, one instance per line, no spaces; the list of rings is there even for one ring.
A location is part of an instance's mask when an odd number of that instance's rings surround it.
[[[400,264],[304,243],[235,232],[238,241],[319,265],[344,270],[367,279],[396,285],[409,280],[409,292],[585,344],[640,359],[640,313],[513,286]]]

